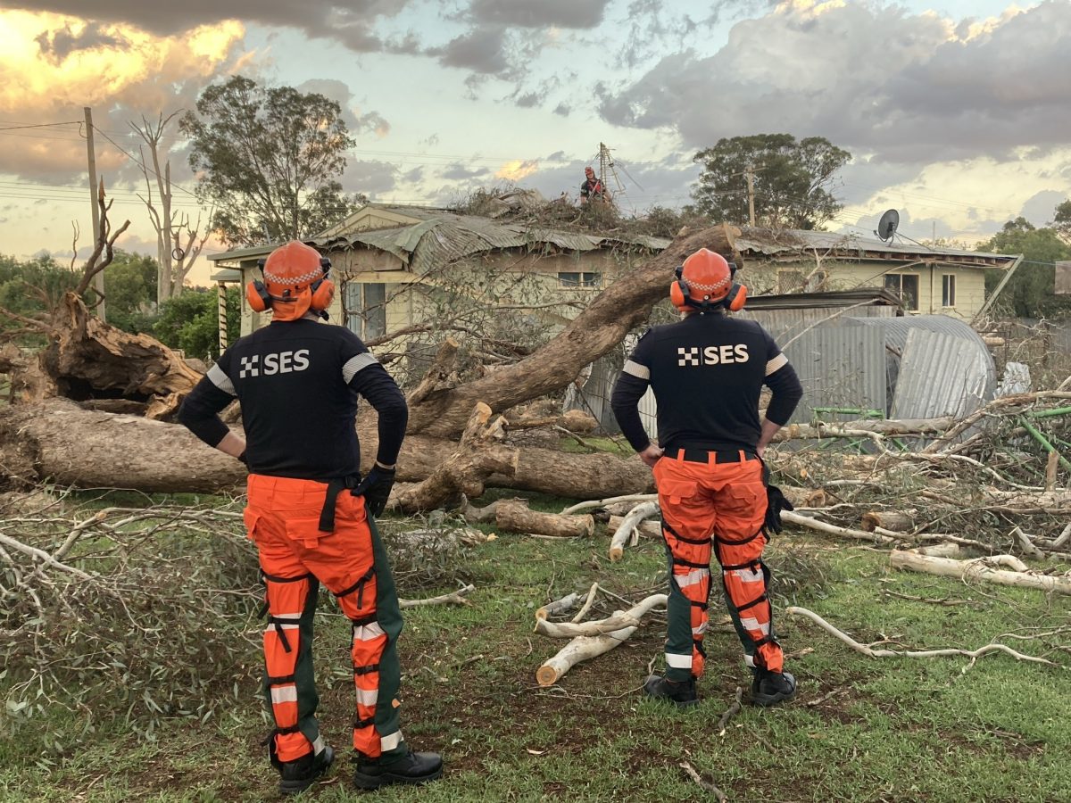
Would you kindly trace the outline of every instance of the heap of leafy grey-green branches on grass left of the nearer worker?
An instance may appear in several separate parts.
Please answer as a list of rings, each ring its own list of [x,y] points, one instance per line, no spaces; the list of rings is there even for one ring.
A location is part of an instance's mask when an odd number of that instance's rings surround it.
[[[147,732],[165,716],[220,718],[248,695],[262,587],[240,507],[34,491],[5,495],[0,516],[9,727],[59,707],[86,733],[117,716]]]

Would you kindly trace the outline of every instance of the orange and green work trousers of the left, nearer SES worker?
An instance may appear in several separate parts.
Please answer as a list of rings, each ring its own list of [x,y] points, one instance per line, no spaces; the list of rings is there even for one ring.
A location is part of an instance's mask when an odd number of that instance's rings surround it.
[[[319,522],[327,483],[251,474],[247,487],[245,526],[256,542],[267,586],[265,695],[275,719],[272,761],[293,761],[323,749],[312,653],[321,582],[352,622],[353,748],[367,758],[404,755],[395,647],[402,612],[364,498],[341,493],[334,530],[325,532]]]

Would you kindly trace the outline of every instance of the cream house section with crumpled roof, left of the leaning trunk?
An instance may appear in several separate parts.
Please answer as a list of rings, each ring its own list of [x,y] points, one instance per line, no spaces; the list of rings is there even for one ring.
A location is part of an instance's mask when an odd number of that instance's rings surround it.
[[[331,259],[338,285],[331,320],[365,340],[467,304],[526,308],[544,324],[564,323],[593,292],[668,244],[382,203],[366,203],[305,242]],[[209,255],[213,279],[244,285],[258,277],[258,261],[276,245]],[[243,298],[242,334],[268,319]]]

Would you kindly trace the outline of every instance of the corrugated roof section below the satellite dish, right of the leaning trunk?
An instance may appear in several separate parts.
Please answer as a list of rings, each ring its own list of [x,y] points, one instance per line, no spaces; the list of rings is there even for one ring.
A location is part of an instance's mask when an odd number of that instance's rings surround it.
[[[765,256],[786,255],[798,252],[821,251],[826,256],[841,256],[856,259],[903,257],[905,259],[922,259],[941,261],[941,257],[962,264],[990,267],[1010,264],[1017,255],[987,254],[976,251],[960,251],[957,248],[938,248],[902,240],[883,242],[881,240],[859,237],[851,233],[833,231],[805,231],[802,229],[761,229],[744,227],[736,240],[736,246],[746,254],[763,254]]]

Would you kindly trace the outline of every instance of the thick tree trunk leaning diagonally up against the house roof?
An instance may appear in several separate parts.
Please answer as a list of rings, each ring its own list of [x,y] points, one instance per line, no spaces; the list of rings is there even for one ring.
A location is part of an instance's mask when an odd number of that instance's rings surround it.
[[[501,412],[564,388],[584,366],[616,348],[625,334],[647,320],[651,307],[665,298],[666,276],[672,276],[685,257],[707,247],[741,264],[734,245],[738,233],[738,229],[721,225],[678,238],[595,296],[562,332],[529,357],[476,381],[431,391],[412,405],[409,431],[450,437],[464,428],[477,402]]]

